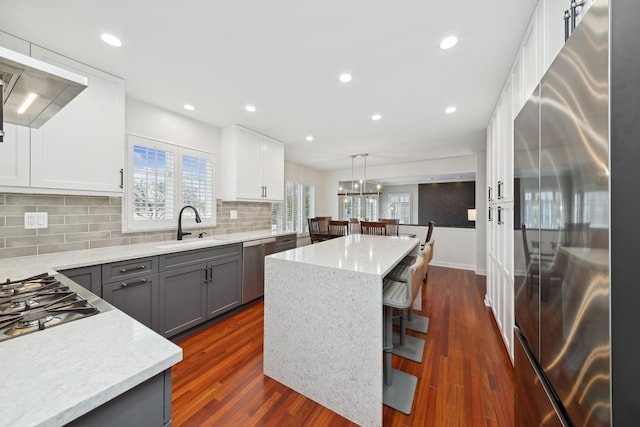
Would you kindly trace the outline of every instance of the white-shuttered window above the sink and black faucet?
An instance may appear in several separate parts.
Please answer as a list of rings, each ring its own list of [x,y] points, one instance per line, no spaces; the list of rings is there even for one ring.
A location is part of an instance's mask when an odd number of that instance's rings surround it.
[[[199,226],[215,226],[214,160],[210,153],[129,135],[124,230],[175,228],[185,205],[198,210]],[[184,218],[195,214],[186,210]]]

